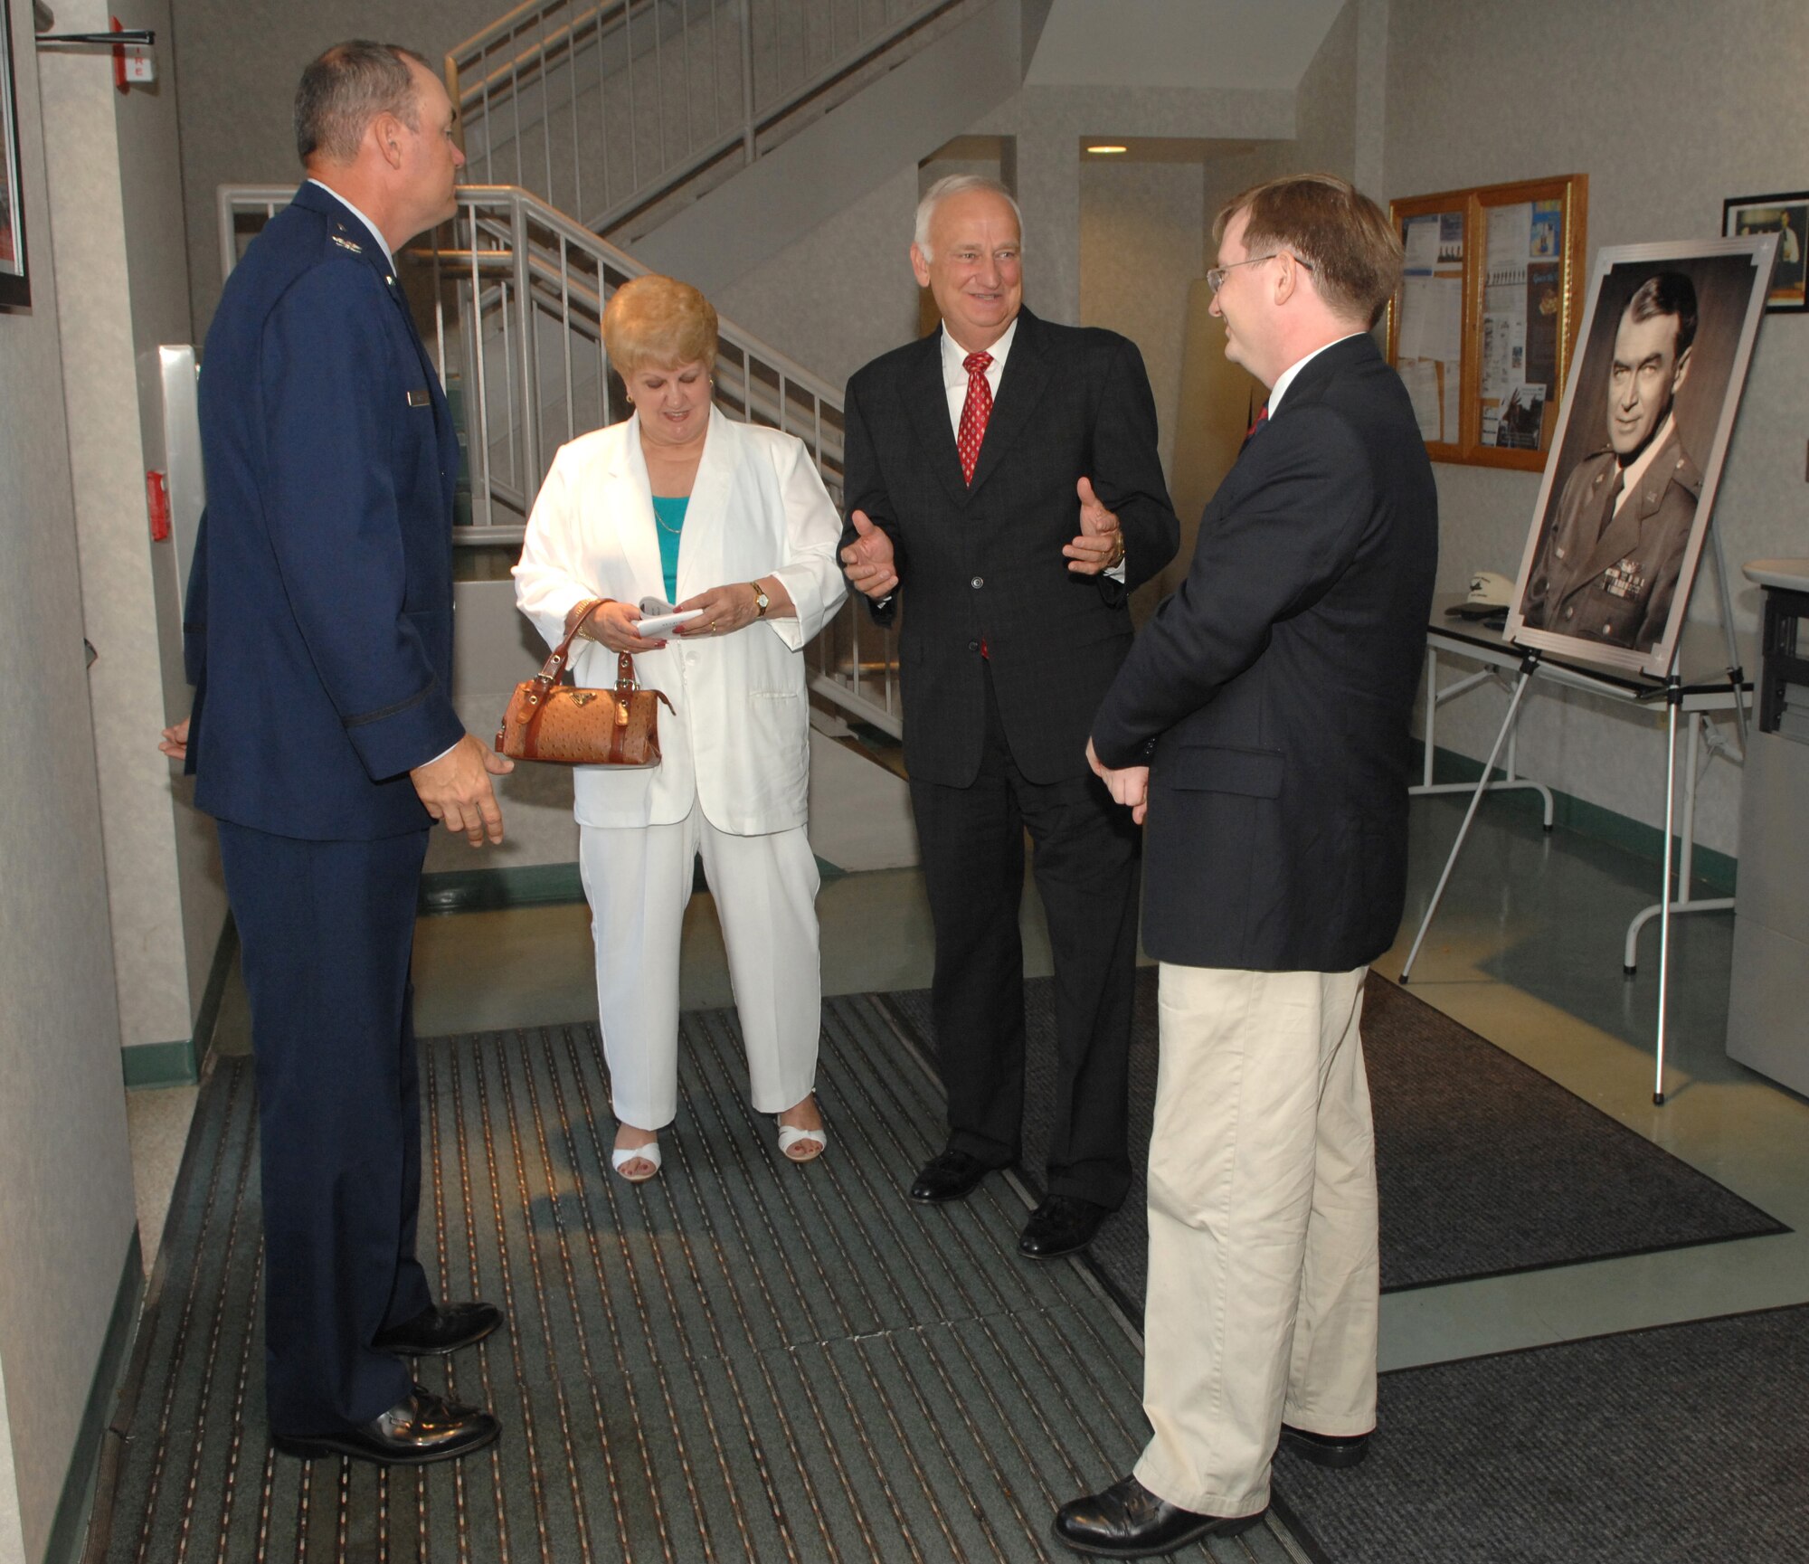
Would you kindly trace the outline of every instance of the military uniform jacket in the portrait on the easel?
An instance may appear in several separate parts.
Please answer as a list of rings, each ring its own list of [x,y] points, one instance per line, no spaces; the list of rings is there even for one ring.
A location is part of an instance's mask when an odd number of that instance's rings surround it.
[[[1521,615],[1534,630],[1648,652],[1672,614],[1702,472],[1673,427],[1637,492],[1597,538],[1617,460],[1614,451],[1596,451],[1570,471],[1527,577]]]

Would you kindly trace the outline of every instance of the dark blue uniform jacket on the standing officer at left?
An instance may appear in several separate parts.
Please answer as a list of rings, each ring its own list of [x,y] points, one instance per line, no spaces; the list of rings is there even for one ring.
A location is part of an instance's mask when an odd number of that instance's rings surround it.
[[[382,244],[315,185],[226,281],[201,449],[183,626],[195,804],[309,840],[431,825],[407,771],[465,731],[458,443]]]

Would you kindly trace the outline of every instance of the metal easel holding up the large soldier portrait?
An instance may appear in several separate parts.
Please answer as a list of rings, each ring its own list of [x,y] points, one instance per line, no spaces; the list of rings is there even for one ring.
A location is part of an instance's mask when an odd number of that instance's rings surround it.
[[[1733,590],[1728,583],[1728,559],[1720,547],[1720,530],[1710,521],[1708,538],[1715,548],[1715,579],[1720,586],[1720,625],[1728,643],[1728,682],[1733,690],[1733,719],[1740,735],[1740,753],[1746,753],[1746,706],[1742,704],[1742,691],[1746,688],[1746,673],[1740,668],[1740,648],[1733,634]],[[1695,592],[1695,583],[1691,583],[1691,592]],[[1688,608],[1688,605],[1686,605]],[[1516,644],[1516,643],[1511,643]],[[1545,653],[1538,648],[1518,646],[1521,652],[1520,670],[1514,679],[1514,693],[1507,702],[1507,715],[1501,719],[1501,728],[1494,735],[1494,748],[1489,751],[1489,758],[1483,762],[1482,777],[1471,793],[1469,809],[1463,813],[1463,824],[1458,827],[1456,842],[1451,844],[1451,853],[1445,858],[1444,873],[1438,876],[1438,885],[1433,889],[1433,900],[1425,907],[1425,916],[1420,920],[1420,932],[1413,939],[1413,949],[1407,952],[1406,965],[1400,968],[1400,981],[1407,983],[1413,963],[1420,956],[1420,945],[1425,943],[1425,932],[1433,925],[1433,916],[1438,912],[1438,903],[1444,900],[1445,885],[1451,882],[1451,873],[1456,869],[1458,856],[1463,853],[1463,842],[1469,836],[1471,822],[1476,818],[1476,811],[1482,807],[1483,793],[1491,786],[1501,786],[1492,782],[1494,762],[1501,755],[1501,748],[1512,742],[1514,724],[1520,719],[1520,702],[1527,693],[1527,686],[1538,675],[1539,668],[1545,666]],[[1690,900],[1690,840],[1684,842],[1681,873],[1684,876],[1682,898],[1672,900],[1672,842],[1675,838],[1677,827],[1677,715],[1682,711],[1684,704],[1684,682],[1679,672],[1679,659],[1682,655],[1682,635],[1677,637],[1677,644],[1672,648],[1672,666],[1664,677],[1662,693],[1666,706],[1666,755],[1664,755],[1664,873],[1661,876],[1659,901],[1653,907],[1644,909],[1630,925],[1626,936],[1626,959],[1624,970],[1632,978],[1635,965],[1635,945],[1639,939],[1641,927],[1652,920],[1659,920],[1659,1026],[1657,1026],[1657,1064],[1652,1082],[1652,1101],[1659,1106],[1664,1104],[1664,1041],[1666,1041],[1666,1019],[1670,1008],[1670,956],[1672,956],[1672,914],[1673,912],[1717,912],[1733,907],[1731,896],[1715,896],[1700,901]],[[1485,677],[1485,675],[1478,675]],[[1585,681],[1586,684],[1586,681]],[[1621,693],[1612,686],[1601,686],[1610,693]],[[1657,691],[1653,691],[1657,693]],[[1436,702],[1438,691],[1427,691],[1427,701]],[[1690,760],[1695,764],[1695,713],[1691,713],[1690,724]],[[1509,768],[1512,771],[1512,768]],[[1509,777],[1509,786],[1534,786],[1525,780]],[[1431,789],[1418,789],[1431,791]],[[1442,787],[1438,791],[1451,791]],[[1545,791],[1545,789],[1539,789]],[[1691,815],[1693,815],[1693,791],[1691,791]],[[1550,800],[1547,795],[1547,829],[1550,829]]]

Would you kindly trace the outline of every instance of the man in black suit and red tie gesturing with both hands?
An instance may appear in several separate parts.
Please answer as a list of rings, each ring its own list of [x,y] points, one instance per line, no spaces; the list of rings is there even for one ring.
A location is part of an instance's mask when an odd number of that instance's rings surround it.
[[[1056,1102],[1047,1197],[1018,1247],[1044,1260],[1089,1244],[1131,1180],[1138,836],[1082,751],[1131,646],[1127,597],[1174,558],[1179,523],[1141,357],[1022,308],[1020,234],[1009,194],[973,176],[917,208],[912,268],[942,329],[848,382],[843,563],[876,621],[903,610],[950,1131],[910,1195],[962,1198],[1018,1155],[1028,827],[1055,954]]]

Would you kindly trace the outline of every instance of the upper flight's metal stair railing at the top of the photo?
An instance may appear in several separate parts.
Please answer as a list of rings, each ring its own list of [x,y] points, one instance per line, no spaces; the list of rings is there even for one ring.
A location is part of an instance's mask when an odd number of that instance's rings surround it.
[[[447,92],[474,179],[606,234],[962,4],[526,0],[445,56]]]

